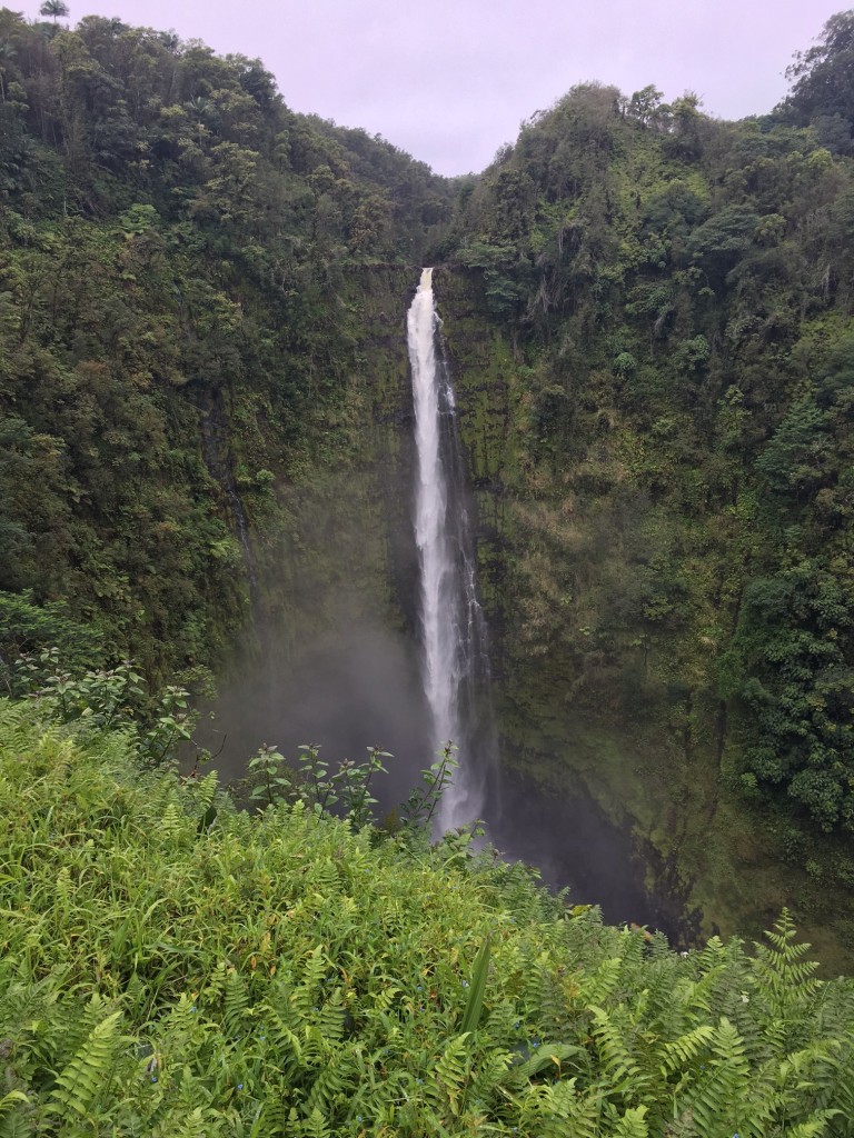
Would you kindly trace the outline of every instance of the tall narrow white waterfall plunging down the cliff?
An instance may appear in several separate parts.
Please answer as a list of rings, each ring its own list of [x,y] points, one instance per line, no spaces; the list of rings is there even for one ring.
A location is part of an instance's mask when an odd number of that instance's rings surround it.
[[[473,822],[485,805],[493,762],[486,626],[476,593],[476,562],[453,388],[442,354],[425,269],[407,318],[416,411],[418,475],[414,528],[420,563],[424,690],[434,752],[457,747],[453,784],[437,831]]]

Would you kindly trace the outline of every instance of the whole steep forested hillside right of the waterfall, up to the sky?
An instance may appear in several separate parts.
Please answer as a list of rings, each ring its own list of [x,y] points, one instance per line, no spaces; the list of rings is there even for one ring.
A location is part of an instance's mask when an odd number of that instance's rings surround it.
[[[740,802],[824,923],[854,884],[852,43],[844,13],[740,123],[575,88],[466,188],[437,278],[517,753],[622,725],[687,875]]]

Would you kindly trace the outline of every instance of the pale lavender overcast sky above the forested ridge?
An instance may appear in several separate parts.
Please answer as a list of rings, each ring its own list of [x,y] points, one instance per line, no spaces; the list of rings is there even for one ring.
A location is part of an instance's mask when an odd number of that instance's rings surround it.
[[[39,0],[0,0],[35,18]],[[381,134],[441,174],[486,166],[575,83],[696,91],[740,118],[786,93],[832,0],[67,0],[260,57],[294,110]]]

